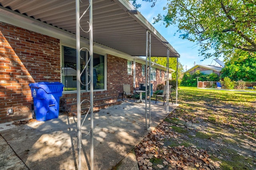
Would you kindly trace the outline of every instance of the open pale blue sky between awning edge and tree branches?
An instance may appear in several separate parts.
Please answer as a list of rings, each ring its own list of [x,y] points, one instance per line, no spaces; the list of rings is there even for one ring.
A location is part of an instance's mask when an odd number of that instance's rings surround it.
[[[142,4],[140,8],[138,8],[138,11],[152,24],[153,23],[153,17],[156,17],[159,13],[165,14],[163,11],[163,7],[167,4],[167,0],[157,0],[156,6],[151,8],[151,3],[149,2],[142,2],[142,0],[137,0],[138,4]],[[179,61],[183,65],[184,71],[192,68],[194,66],[194,63],[201,64],[201,65],[214,65],[216,62],[213,61],[213,58],[202,60],[204,57],[198,56],[199,47],[196,45],[196,43],[190,42],[188,40],[182,40],[179,38],[179,34],[177,33],[176,36],[174,36],[174,33],[177,31],[177,27],[175,26],[169,26],[168,28],[165,28],[164,24],[157,23],[152,24],[158,32],[178,51],[180,54]],[[219,58],[220,60],[223,60],[222,58]]]

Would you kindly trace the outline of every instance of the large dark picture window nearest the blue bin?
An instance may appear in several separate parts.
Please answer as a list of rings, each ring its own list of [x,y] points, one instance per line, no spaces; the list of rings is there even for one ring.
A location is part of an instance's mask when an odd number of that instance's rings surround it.
[[[80,52],[80,71],[82,73],[85,64],[88,61],[89,53],[87,51]],[[93,53],[93,81],[94,89],[104,89],[106,84],[106,64],[105,56]],[[72,47],[62,46],[62,83],[64,91],[76,91],[76,49]],[[90,62],[88,67],[83,71],[81,77],[81,89],[90,90]]]

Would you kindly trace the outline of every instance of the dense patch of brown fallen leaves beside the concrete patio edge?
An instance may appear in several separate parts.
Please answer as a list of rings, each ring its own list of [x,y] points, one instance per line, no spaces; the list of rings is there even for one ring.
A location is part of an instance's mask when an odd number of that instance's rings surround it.
[[[140,170],[152,170],[155,159],[162,160],[155,168],[186,169],[195,167],[201,170],[218,169],[219,164],[210,159],[206,150],[198,149],[196,146],[175,146],[165,144],[168,138],[178,138],[173,132],[171,123],[162,122],[154,131],[150,132],[140,144],[134,149]]]

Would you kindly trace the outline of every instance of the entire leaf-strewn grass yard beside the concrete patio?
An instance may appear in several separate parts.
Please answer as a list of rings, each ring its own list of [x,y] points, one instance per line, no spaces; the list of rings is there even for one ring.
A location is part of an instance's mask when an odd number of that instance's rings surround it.
[[[140,169],[256,169],[256,93],[179,87],[178,104],[134,149]]]

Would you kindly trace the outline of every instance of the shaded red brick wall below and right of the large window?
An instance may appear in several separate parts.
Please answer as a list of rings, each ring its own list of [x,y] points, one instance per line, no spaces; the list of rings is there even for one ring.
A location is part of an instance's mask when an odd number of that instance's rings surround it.
[[[133,83],[133,74],[127,73],[127,60],[114,55],[107,55],[107,91],[94,92],[94,110],[102,109],[111,105],[120,103],[117,101],[119,93],[123,91],[123,84],[130,84],[131,90]],[[73,113],[77,111],[76,93],[64,94],[62,98],[66,100],[67,110]],[[81,94],[81,101],[90,99],[90,92]],[[81,105],[82,112],[88,110],[89,103],[84,102]]]

